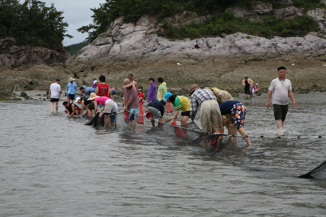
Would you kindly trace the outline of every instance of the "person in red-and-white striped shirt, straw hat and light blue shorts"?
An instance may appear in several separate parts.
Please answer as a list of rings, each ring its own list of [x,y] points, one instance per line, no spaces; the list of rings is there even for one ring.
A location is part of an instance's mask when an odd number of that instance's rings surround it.
[[[125,111],[128,111],[128,119],[131,123],[131,133],[136,132],[136,120],[139,114],[139,96],[133,82],[129,79],[123,80],[123,93],[125,95]]]

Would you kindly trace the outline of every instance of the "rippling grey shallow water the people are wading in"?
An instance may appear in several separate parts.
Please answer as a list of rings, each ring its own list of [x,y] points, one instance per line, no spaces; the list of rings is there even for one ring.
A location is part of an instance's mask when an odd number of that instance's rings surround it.
[[[326,95],[295,99],[286,135],[326,136]],[[249,135],[277,135],[266,94],[236,100]],[[60,104],[50,114],[48,101],[0,108],[0,216],[326,215],[326,181],[295,178],[326,160],[320,139],[238,139],[211,156],[174,138],[157,143],[147,120],[131,135],[122,116],[114,130],[67,118]]]

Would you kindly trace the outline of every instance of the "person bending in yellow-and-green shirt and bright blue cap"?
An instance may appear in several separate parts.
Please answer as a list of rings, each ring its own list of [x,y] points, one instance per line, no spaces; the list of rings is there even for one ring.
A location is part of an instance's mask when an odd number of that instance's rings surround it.
[[[173,115],[170,124],[178,117],[178,114],[181,110],[181,126],[188,128],[188,119],[190,118],[190,100],[185,96],[177,96],[167,92],[164,95],[164,102],[170,102],[175,108],[175,114]]]

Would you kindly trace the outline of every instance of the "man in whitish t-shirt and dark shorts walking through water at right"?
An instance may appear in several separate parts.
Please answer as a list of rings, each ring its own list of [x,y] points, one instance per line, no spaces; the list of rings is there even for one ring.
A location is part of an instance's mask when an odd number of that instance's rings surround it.
[[[297,104],[294,100],[292,93],[292,84],[289,79],[285,79],[286,68],[280,66],[277,69],[278,78],[272,80],[271,85],[268,88],[266,107],[269,108],[269,99],[273,94],[273,110],[274,118],[277,121],[277,128],[283,130],[283,124],[289,108],[289,99],[292,100],[293,107],[296,108]]]

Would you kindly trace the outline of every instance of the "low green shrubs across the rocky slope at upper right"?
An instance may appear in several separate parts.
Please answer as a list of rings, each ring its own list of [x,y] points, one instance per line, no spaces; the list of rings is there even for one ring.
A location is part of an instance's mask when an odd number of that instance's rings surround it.
[[[263,19],[263,22],[251,22],[244,18],[236,18],[230,11],[227,11],[213,16],[211,21],[204,23],[190,23],[181,27],[173,27],[171,24],[165,23],[158,35],[171,39],[193,39],[221,36],[221,33],[232,34],[242,32],[270,38],[272,36],[304,36],[308,32],[317,30],[317,22],[308,15],[295,17],[292,20],[268,16]]]

